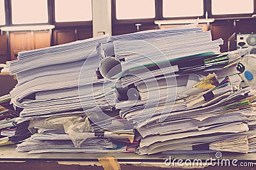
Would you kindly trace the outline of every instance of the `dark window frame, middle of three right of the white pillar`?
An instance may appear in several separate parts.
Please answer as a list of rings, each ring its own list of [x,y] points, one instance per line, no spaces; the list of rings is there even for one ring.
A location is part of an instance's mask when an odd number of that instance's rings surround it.
[[[204,14],[202,16],[189,16],[189,17],[164,17],[164,13],[163,13],[163,0],[160,0],[159,2],[159,8],[160,8],[160,11],[161,11],[161,14],[160,14],[160,18],[159,20],[180,20],[180,19],[196,19],[196,18],[206,18],[205,17],[205,13],[207,11],[207,0],[203,0],[203,11],[204,11]]]

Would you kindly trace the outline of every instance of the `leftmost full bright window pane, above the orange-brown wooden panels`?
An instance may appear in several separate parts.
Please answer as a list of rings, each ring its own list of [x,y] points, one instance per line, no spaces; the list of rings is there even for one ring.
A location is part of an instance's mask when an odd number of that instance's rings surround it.
[[[12,0],[12,24],[47,22],[47,0]]]

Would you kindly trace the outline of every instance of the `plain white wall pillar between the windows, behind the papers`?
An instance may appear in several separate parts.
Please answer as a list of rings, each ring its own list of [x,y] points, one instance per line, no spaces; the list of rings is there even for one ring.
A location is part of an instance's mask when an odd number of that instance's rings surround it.
[[[111,36],[111,0],[92,0],[93,37],[105,32]]]

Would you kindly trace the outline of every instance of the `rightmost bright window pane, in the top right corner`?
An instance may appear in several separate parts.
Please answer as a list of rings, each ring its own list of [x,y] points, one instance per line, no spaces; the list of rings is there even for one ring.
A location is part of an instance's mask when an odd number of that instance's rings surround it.
[[[253,0],[212,0],[212,15],[253,13]]]

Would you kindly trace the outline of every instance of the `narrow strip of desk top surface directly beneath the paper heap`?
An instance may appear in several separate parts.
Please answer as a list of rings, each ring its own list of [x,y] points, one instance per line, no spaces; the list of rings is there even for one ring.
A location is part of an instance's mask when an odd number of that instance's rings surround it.
[[[116,157],[118,161],[163,162],[172,159],[216,159],[215,154],[153,154],[138,155],[136,153],[33,153],[16,152],[15,145],[0,147],[0,160],[65,160],[65,161],[95,161],[100,157]],[[221,159],[250,160],[256,162],[256,153],[223,153]]]

